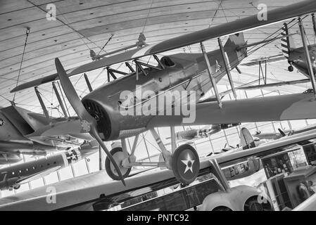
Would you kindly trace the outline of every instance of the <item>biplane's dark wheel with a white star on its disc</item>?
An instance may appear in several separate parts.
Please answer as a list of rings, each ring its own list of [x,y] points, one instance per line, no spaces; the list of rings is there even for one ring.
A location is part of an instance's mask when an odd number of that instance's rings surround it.
[[[200,160],[196,150],[184,144],[179,146],[172,156],[172,170],[181,184],[191,184],[200,170]]]

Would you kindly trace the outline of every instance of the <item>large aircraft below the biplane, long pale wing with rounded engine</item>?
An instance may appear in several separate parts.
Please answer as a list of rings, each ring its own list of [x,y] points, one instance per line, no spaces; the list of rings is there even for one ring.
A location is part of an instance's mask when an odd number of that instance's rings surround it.
[[[205,210],[213,210],[220,206],[226,206],[232,210],[243,210],[249,198],[255,197],[256,200],[263,200],[263,198],[257,198],[258,196],[263,197],[263,195],[262,193],[260,195],[256,188],[250,189],[248,186],[231,188],[222,173],[222,168],[253,158],[263,158],[274,153],[296,150],[297,148],[292,148],[296,143],[315,138],[315,131],[305,131],[256,148],[201,158],[198,176],[213,174],[222,186],[222,190],[206,198],[205,203],[208,207]],[[108,210],[112,205],[119,205],[127,200],[179,184],[175,174],[168,169],[155,169],[131,176],[126,179],[126,186],[119,181],[104,181],[104,176],[106,176],[106,172],[99,171],[54,184],[56,204],[47,204],[48,186],[42,186],[17,193],[14,198],[11,196],[1,198],[0,210]],[[234,191],[232,192],[232,190]],[[248,194],[253,191],[255,191],[255,195],[249,196]],[[248,196],[245,198],[245,195]],[[211,198],[211,196],[213,197]],[[239,207],[236,209],[237,205]]]

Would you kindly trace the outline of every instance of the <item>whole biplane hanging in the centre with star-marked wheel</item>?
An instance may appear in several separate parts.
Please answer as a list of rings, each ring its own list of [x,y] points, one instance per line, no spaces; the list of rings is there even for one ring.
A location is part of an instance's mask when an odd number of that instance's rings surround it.
[[[221,101],[216,86],[217,82],[227,74],[234,96],[236,96],[230,71],[246,58],[247,47],[255,45],[247,44],[242,32],[289,18],[300,17],[314,11],[316,11],[315,1],[302,1],[267,12],[267,20],[258,20],[258,16],[253,15],[231,23],[168,39],[158,44],[136,45],[137,49],[113,56],[94,56],[98,60],[67,71],[64,70],[60,60],[56,58],[56,74],[21,84],[12,91],[19,91],[60,79],[65,96],[81,121],[77,127],[71,127],[72,134],[88,132],[98,141],[108,156],[106,160],[108,160],[110,167],[106,169],[106,172],[112,179],[121,180],[125,184],[125,178],[133,166],[163,166],[172,169],[182,184],[190,184],[198,175],[198,153],[187,144],[176,148],[173,132],[172,152],[166,150],[154,129],[155,127],[181,126],[185,124],[185,121],[191,121],[191,114],[184,113],[183,108],[181,108],[182,111],[175,112],[179,109],[176,106],[181,105],[181,103],[185,102],[182,106],[187,107],[187,110],[188,108],[193,109],[192,113],[194,112],[195,120],[190,122],[191,125],[300,120],[316,117],[316,102],[310,101],[310,98],[315,98],[312,93]],[[229,36],[229,38],[222,46],[220,38],[225,36]],[[218,39],[219,49],[206,52],[203,41],[215,38]],[[264,42],[260,41],[257,44]],[[178,53],[163,56],[163,58],[156,56],[158,53],[196,43],[201,44],[202,53]],[[144,56],[153,56],[158,65],[141,62],[140,58]],[[108,72],[113,73],[115,71],[110,68],[111,65],[130,60],[134,60],[136,68],[132,68],[127,63],[127,67],[131,70],[129,74],[104,84],[98,89],[91,90],[87,96],[80,100],[69,77],[98,68],[108,68]],[[210,89],[215,91],[216,101],[204,100],[203,103],[199,103],[199,99]],[[129,94],[122,98],[124,91]],[[147,91],[151,94],[139,96],[139,91]],[[180,97],[172,96],[176,91],[186,94]],[[162,105],[155,104],[160,96],[164,98],[171,96],[172,102],[168,104],[167,101],[164,101]],[[137,109],[139,108],[145,108],[146,113],[138,114]],[[170,109],[172,115],[165,115]],[[129,114],[129,110],[134,112],[134,115]],[[137,139],[139,134],[146,130],[150,130],[156,139],[165,162],[136,161],[134,151],[137,146]],[[64,132],[63,129],[58,129],[58,126],[54,127],[54,131],[56,134]],[[69,129],[65,129],[65,131],[69,132]],[[131,153],[128,153],[125,139],[131,136],[136,136],[136,138]],[[103,141],[118,139],[122,141],[122,150],[115,150],[114,154],[113,151],[110,152],[106,148]]]

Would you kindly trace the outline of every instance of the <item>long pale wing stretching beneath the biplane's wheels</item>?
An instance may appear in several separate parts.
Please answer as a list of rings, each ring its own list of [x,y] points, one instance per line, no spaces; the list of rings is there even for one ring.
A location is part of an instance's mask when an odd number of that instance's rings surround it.
[[[212,158],[217,159],[220,167],[227,167],[251,157],[281,152],[284,147],[315,138],[315,131],[305,131],[272,141],[264,146],[201,158],[199,175],[210,173],[212,164],[209,160]],[[47,204],[47,186],[17,193],[14,198],[12,196],[0,198],[0,210],[93,210],[92,205],[103,200],[100,195],[106,196],[106,201],[109,203],[122,203],[122,201],[177,184],[170,169],[157,169],[129,177],[125,180],[126,186],[120,181],[105,181],[105,176],[106,172],[99,171],[54,184],[56,188],[55,204]]]

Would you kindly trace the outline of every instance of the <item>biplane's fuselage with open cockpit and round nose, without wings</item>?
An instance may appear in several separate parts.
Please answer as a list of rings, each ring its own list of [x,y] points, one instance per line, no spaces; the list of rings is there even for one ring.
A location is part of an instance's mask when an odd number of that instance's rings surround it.
[[[236,50],[236,47],[241,44],[244,44],[242,34],[234,34],[225,44],[224,49],[227,52],[229,70],[234,69],[246,57],[246,49]],[[215,82],[218,82],[226,74],[222,54],[220,50],[215,50],[207,53],[207,56],[210,61],[212,75]],[[151,100],[158,97],[161,91],[163,93],[187,91],[187,95],[181,96],[182,99],[186,98],[187,102],[189,102],[189,97],[191,98],[189,91],[194,91],[194,103],[196,103],[213,87],[207,72],[206,60],[202,53],[179,53],[168,56],[166,61],[172,63],[164,63],[164,61],[162,58],[161,62],[165,68],[161,70],[148,68],[146,69],[147,75],[139,72],[139,79],[136,79],[135,72],[133,72],[104,84],[82,99],[87,111],[96,118],[99,134],[104,141],[134,136],[146,130],[146,124],[154,116],[153,114],[122,115],[120,111],[122,110],[121,105],[124,105],[123,110],[124,108],[125,110],[137,109],[148,101],[148,96],[141,96],[141,99],[137,97],[139,89],[143,94],[146,91],[154,93],[154,96],[150,96]],[[131,95],[122,99],[122,91],[129,91]],[[179,101],[179,99],[174,98],[172,104],[165,103],[163,109],[175,107],[175,101]],[[157,106],[156,109],[151,109],[151,111],[153,110],[156,115],[160,115],[160,109]]]

